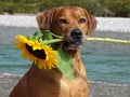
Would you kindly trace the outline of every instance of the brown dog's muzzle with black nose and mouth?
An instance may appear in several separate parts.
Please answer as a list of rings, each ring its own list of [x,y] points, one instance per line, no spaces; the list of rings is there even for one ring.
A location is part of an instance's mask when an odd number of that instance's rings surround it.
[[[83,44],[83,33],[80,29],[73,29],[65,37],[66,41],[64,43],[64,47],[66,50],[78,50]]]

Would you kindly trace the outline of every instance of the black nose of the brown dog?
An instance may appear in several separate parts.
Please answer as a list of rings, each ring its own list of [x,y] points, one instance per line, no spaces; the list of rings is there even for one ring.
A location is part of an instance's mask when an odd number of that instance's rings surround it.
[[[81,40],[81,38],[82,38],[82,32],[81,32],[81,30],[80,29],[74,29],[74,30],[72,30],[72,33],[70,33],[70,36],[72,36],[72,38],[74,39],[74,40]]]

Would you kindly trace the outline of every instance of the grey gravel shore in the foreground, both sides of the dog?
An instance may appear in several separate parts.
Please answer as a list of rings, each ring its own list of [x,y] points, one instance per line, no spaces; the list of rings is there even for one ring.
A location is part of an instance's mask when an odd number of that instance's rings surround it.
[[[9,94],[22,77],[23,74],[0,73],[1,97],[9,97]],[[89,81],[89,85],[90,97],[130,97],[130,84]]]

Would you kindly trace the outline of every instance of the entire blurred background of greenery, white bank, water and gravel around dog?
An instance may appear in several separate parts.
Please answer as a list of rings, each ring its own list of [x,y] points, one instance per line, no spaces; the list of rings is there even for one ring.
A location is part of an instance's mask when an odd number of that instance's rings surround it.
[[[130,40],[130,0],[0,0],[0,97],[9,97],[31,65],[14,48],[15,36],[34,33],[36,14],[62,5],[82,6],[96,16],[95,37]],[[90,97],[130,97],[129,44],[87,41],[81,57]]]

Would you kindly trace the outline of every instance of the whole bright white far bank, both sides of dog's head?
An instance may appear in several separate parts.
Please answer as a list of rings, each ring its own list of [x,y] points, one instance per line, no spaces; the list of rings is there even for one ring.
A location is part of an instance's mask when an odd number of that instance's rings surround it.
[[[96,17],[95,31],[130,32],[130,18]],[[0,26],[38,28],[36,15],[0,15]]]

